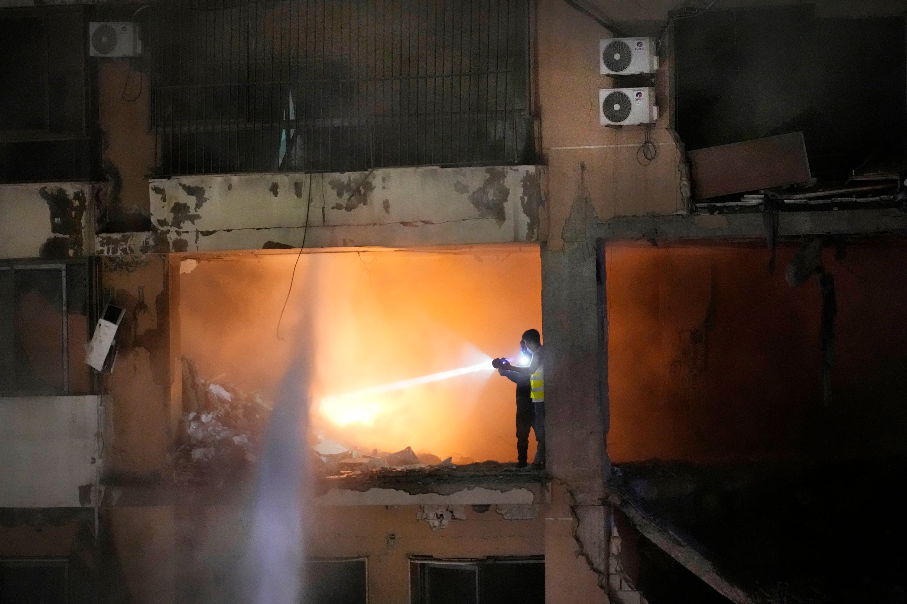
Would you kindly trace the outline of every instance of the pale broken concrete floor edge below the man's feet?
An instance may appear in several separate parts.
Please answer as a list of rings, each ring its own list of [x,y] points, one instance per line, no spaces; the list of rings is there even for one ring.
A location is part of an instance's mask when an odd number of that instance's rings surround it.
[[[465,488],[451,494],[410,494],[399,489],[373,487],[367,491],[331,489],[315,498],[317,505],[486,505],[497,503],[540,503],[528,488],[507,491],[482,486]]]

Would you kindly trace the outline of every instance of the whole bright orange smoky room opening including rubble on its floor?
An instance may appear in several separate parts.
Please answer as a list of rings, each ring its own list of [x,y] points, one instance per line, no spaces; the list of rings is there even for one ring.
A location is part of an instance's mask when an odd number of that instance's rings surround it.
[[[308,271],[316,342],[295,337]],[[322,474],[514,461],[514,385],[490,361],[516,356],[531,327],[541,330],[532,245],[182,260],[180,458],[188,468],[253,462],[283,371],[310,345],[310,441]],[[350,392],[360,394],[338,398]],[[530,455],[534,447],[531,436]]]

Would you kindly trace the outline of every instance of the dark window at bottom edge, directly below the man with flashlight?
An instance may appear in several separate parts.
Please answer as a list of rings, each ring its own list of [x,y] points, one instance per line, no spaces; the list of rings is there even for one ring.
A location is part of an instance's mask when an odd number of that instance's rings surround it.
[[[544,604],[540,558],[410,561],[411,604]]]

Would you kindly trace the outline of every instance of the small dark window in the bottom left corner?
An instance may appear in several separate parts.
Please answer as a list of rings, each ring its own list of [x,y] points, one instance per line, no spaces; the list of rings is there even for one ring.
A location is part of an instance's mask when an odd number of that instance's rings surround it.
[[[0,604],[66,604],[68,590],[63,559],[0,559]]]

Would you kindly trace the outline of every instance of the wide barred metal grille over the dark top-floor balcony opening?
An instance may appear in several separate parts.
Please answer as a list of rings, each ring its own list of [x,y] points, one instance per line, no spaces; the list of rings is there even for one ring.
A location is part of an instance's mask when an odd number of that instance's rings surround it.
[[[530,0],[161,0],[164,175],[534,159]]]

